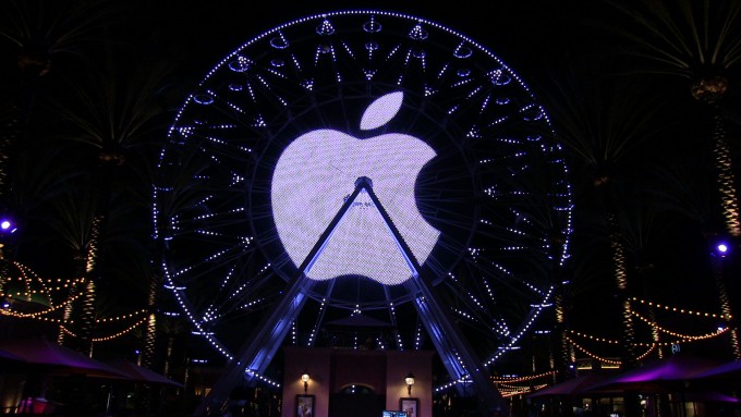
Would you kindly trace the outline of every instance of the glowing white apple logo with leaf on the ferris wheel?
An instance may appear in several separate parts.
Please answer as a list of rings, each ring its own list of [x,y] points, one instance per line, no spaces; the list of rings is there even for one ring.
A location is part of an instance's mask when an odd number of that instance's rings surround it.
[[[403,93],[387,94],[363,113],[361,131],[388,123],[401,108]],[[436,156],[423,140],[403,133],[367,138],[319,128],[302,134],[278,158],[270,184],[270,204],[278,236],[300,266],[360,177],[390,217],[418,265],[423,265],[440,231],[420,213],[414,184],[422,168]],[[378,208],[363,188],[306,272],[317,281],[362,275],[381,284],[400,284],[412,277],[403,254]]]

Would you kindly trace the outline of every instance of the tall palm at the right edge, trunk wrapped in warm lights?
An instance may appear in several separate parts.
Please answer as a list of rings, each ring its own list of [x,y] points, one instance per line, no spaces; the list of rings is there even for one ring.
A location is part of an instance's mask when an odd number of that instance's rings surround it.
[[[710,114],[710,137],[718,203],[725,231],[741,237],[741,220],[726,137],[722,99],[733,69],[741,60],[741,3],[732,0],[636,2],[635,8],[610,2],[633,26],[620,30],[634,49],[637,72],[680,77],[688,93]],[[616,27],[616,25],[612,25]],[[718,294],[724,314],[730,315],[726,285]],[[741,358],[738,336],[732,338],[736,358]]]

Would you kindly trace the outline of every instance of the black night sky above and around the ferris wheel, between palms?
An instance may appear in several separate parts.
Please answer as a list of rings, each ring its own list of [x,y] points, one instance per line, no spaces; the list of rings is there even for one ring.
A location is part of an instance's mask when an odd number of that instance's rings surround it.
[[[25,1],[10,1],[3,8]],[[28,3],[39,3],[33,1]],[[62,13],[64,3],[40,1],[49,16]],[[158,138],[163,138],[168,121],[199,79],[220,59],[246,40],[276,25],[315,13],[340,9],[377,9],[410,13],[438,22],[478,41],[524,79],[537,97],[543,98],[546,110],[557,127],[568,126],[572,120],[559,119],[570,109],[563,105],[564,96],[574,108],[585,109],[588,116],[599,120],[605,127],[612,112],[635,112],[633,126],[644,128],[615,163],[606,163],[616,189],[616,207],[620,212],[624,237],[629,244],[628,262],[631,273],[631,294],[641,299],[661,305],[707,312],[719,312],[714,278],[710,270],[708,231],[714,224],[697,220],[715,198],[709,155],[709,124],[706,113],[689,95],[689,81],[672,75],[641,75],[640,60],[625,54],[630,44],[616,30],[632,30],[634,24],[609,5],[599,1],[490,1],[490,2],[422,2],[422,1],[274,1],[256,5],[252,1],[104,1],[101,17],[106,24],[93,23],[92,36],[70,50],[52,54],[49,74],[34,84],[35,98],[24,140],[19,145],[16,169],[12,174],[19,184],[32,183],[36,173],[53,172],[59,164],[63,177],[69,173],[69,193],[48,193],[40,198],[34,189],[22,185],[5,204],[11,211],[21,212],[25,229],[13,236],[16,257],[46,277],[69,277],[74,269],[72,252],[57,234],[54,217],[58,213],[51,200],[78,196],[76,185],[95,183],[95,155],[90,148],[61,146],[71,127],[63,118],[56,116],[60,105],[74,106],[81,82],[83,89],[95,88],[89,73],[111,69],[114,79],[124,83],[126,74],[154,72],[167,69],[159,101],[148,102],[160,113],[155,118],[153,131],[139,140],[139,146],[124,149],[126,165],[114,174],[112,181],[120,185],[114,193],[113,216],[121,220],[110,231],[106,259],[109,275],[119,277],[110,283],[104,297],[111,304],[120,301],[122,289],[131,289],[126,298],[142,304],[144,285],[130,286],[133,275],[146,273],[151,254],[150,183],[153,161],[157,155]],[[110,9],[106,9],[110,8]],[[4,10],[4,9],[3,9]],[[2,12],[0,12],[2,13]],[[110,14],[108,14],[110,13]],[[12,14],[12,13],[11,13]],[[10,21],[0,19],[0,25],[10,27]],[[77,16],[76,22],[85,17]],[[2,27],[2,26],[0,26]],[[17,46],[0,38],[0,79],[3,109],[10,109],[27,87],[15,57]],[[157,70],[158,71],[158,70]],[[738,79],[738,69],[731,73]],[[122,84],[123,85],[123,84]],[[600,87],[602,89],[597,89]],[[127,85],[137,89],[136,84]],[[566,91],[566,93],[564,93]],[[732,155],[738,147],[739,94],[731,84],[726,102],[727,128]],[[595,105],[599,103],[599,106]],[[549,107],[550,105],[550,107]],[[597,107],[595,107],[597,106]],[[7,112],[8,113],[8,112]],[[647,126],[642,116],[649,115]],[[10,118],[7,118],[8,120]],[[630,123],[629,123],[630,124]],[[607,126],[617,140],[624,139],[630,130]],[[637,128],[637,127],[636,127]],[[588,131],[588,128],[586,130]],[[592,131],[595,133],[596,131]],[[62,137],[60,139],[60,136]],[[33,140],[38,140],[33,142]],[[60,142],[62,140],[62,142]],[[92,157],[92,159],[90,159]],[[595,336],[619,338],[619,312],[611,277],[610,253],[604,224],[602,206],[593,186],[595,171],[584,159],[571,154],[574,186],[574,228],[572,257],[563,271],[570,281],[570,320],[579,332]],[[737,167],[739,164],[737,163]],[[76,167],[76,168],[75,168]],[[80,168],[89,170],[80,170]],[[738,177],[738,174],[737,174]],[[24,191],[25,189],[25,191]],[[23,191],[21,193],[20,191]],[[34,199],[38,197],[38,199]],[[680,200],[680,204],[671,204]],[[19,203],[20,201],[20,203]],[[26,203],[24,203],[26,201]],[[31,203],[28,203],[31,201]],[[40,201],[40,203],[34,203]],[[133,245],[133,246],[132,246]],[[121,248],[134,250],[119,250]],[[733,246],[737,248],[737,246]],[[635,249],[635,250],[633,250]],[[640,250],[639,250],[640,249]],[[724,262],[732,301],[739,305],[737,258],[731,254]],[[127,277],[127,278],[126,278]],[[134,278],[135,280],[135,278]],[[121,310],[110,307],[111,311]],[[716,322],[694,316],[658,311],[657,321],[679,333],[704,334],[712,332]],[[641,340],[648,332],[642,324]],[[717,345],[726,348],[727,338],[720,342],[688,344],[689,349],[709,353]],[[602,352],[599,344],[588,344]],[[690,347],[692,346],[692,347]],[[615,355],[605,349],[605,355]]]

